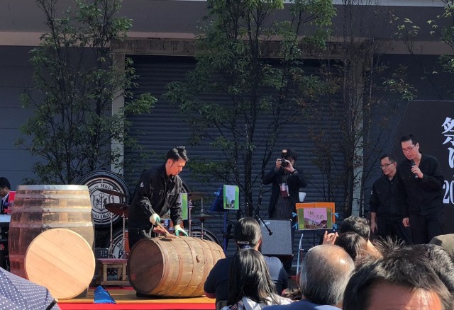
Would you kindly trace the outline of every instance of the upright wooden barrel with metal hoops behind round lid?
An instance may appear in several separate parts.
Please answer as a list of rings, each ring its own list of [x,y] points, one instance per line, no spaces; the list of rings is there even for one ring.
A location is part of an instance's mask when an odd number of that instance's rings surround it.
[[[48,229],[70,229],[91,247],[92,204],[86,185],[19,185],[9,224],[11,272],[26,277],[24,259],[30,243]]]

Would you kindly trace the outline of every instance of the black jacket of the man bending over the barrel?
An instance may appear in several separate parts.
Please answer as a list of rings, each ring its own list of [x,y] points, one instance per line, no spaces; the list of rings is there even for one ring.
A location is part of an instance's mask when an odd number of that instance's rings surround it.
[[[167,177],[165,165],[144,171],[140,176],[128,216],[128,227],[150,230],[151,214],[160,217],[170,209],[170,219],[174,225],[182,222],[182,206],[179,193],[182,179],[179,176]]]

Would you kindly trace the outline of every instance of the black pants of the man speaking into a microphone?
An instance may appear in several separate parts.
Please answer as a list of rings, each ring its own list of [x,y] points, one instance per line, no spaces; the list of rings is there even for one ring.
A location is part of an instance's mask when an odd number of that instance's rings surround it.
[[[434,236],[443,234],[443,211],[428,215],[410,214],[410,230],[414,244],[429,243]]]

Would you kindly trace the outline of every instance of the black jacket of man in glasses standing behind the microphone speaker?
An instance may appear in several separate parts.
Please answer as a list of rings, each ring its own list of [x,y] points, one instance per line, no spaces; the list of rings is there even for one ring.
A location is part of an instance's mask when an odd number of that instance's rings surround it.
[[[404,201],[397,193],[397,178],[392,180],[388,176],[382,176],[375,180],[370,194],[370,212],[382,215],[390,220],[402,219],[401,206]]]

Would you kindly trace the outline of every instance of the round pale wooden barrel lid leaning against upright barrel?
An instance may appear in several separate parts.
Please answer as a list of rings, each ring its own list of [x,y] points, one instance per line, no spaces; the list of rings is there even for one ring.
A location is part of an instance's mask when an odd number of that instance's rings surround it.
[[[50,229],[39,234],[25,257],[28,280],[47,287],[57,299],[71,299],[89,287],[95,259],[89,243],[69,229]]]

